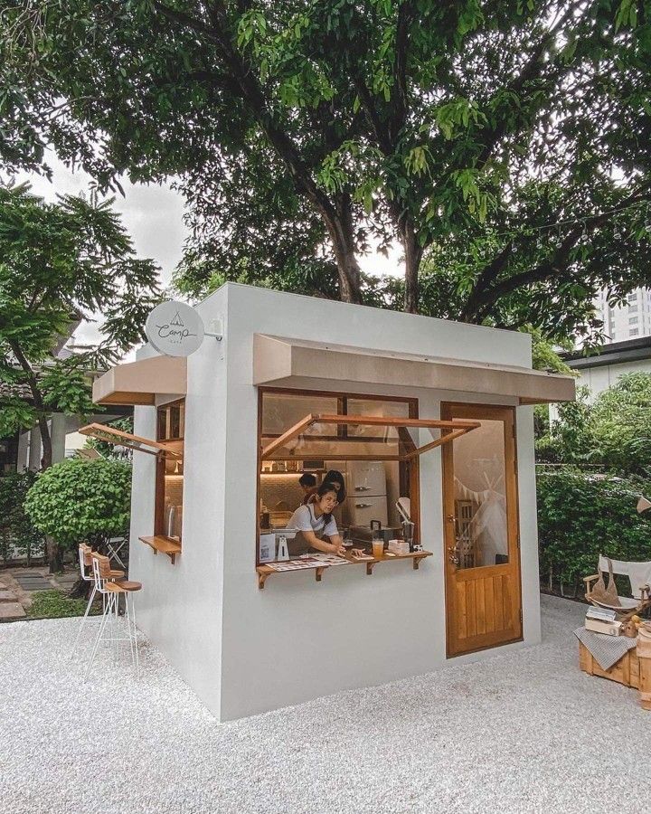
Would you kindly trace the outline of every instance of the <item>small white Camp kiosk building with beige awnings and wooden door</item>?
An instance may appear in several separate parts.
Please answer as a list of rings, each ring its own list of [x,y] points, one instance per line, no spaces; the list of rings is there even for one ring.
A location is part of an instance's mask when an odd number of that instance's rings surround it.
[[[160,336],[197,349],[146,345],[94,397],[137,405],[116,442],[140,450],[138,626],[214,715],[540,641],[531,405],[572,400],[574,381],[533,371],[529,336],[232,283],[195,310],[221,339],[170,311]],[[364,553],[276,561],[263,543],[301,474],[332,469],[335,519]],[[373,556],[405,507],[415,550]]]

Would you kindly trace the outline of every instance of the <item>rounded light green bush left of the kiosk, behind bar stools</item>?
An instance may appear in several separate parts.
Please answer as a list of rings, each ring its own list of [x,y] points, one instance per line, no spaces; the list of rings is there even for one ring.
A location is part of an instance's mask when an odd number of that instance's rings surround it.
[[[129,524],[131,466],[116,460],[69,459],[38,476],[25,511],[33,525],[63,548],[100,548]]]

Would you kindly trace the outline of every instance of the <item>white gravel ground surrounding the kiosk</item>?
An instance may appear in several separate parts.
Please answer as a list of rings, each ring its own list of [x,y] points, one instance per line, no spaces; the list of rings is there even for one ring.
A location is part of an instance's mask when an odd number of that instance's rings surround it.
[[[0,625],[0,811],[645,810],[651,714],[580,672],[581,605],[542,607],[541,647],[231,724],[156,648],[84,685],[76,620]]]

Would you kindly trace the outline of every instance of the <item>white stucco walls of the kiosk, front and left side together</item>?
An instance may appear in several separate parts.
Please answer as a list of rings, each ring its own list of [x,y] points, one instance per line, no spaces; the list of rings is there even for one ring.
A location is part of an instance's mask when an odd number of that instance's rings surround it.
[[[144,583],[139,627],[222,720],[445,666],[438,450],[420,460],[422,542],[434,556],[419,571],[410,562],[380,564],[370,577],[363,566],[331,568],[320,583],[312,572],[278,574],[259,590],[253,334],[522,366],[531,364],[529,337],[234,284],[197,309],[206,324],[222,319],[224,339],[206,339],[188,359],[184,549],[174,566],[137,542],[153,530],[154,459],[135,456],[130,573]],[[392,394],[345,382],[337,389]],[[439,418],[441,400],[473,400],[418,388],[400,394],[419,399],[422,418]],[[154,435],[155,414],[137,408],[137,434]],[[540,640],[532,408],[518,408],[516,422],[524,642],[508,648]]]

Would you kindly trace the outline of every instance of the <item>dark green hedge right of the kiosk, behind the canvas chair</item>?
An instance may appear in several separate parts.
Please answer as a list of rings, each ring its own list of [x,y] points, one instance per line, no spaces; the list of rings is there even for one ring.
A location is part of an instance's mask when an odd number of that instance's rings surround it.
[[[542,579],[576,586],[596,573],[599,554],[651,560],[651,516],[636,511],[651,482],[561,469],[539,473],[537,491]]]

